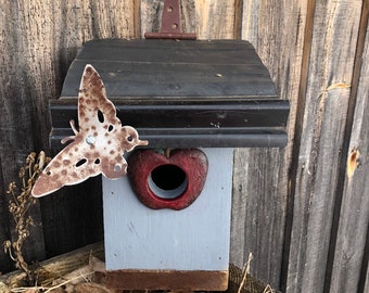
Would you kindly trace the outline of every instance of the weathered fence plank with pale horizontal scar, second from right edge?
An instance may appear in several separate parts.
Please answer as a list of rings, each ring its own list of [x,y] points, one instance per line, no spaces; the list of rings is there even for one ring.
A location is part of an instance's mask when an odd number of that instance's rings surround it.
[[[315,3],[287,292],[322,292],[361,1]],[[336,47],[340,43],[340,47]],[[344,61],[344,62],[343,62]]]

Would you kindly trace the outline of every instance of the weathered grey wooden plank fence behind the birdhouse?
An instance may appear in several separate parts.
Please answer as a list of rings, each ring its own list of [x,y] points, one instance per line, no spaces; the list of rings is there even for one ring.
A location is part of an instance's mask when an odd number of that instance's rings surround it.
[[[158,29],[163,1],[0,1],[0,243],[8,183],[48,150],[48,101],[85,41]],[[200,39],[245,39],[282,99],[285,149],[234,150],[231,262],[285,292],[369,292],[368,0],[182,0]],[[39,201],[28,262],[99,241],[98,180]],[[0,271],[13,262],[0,252]]]

